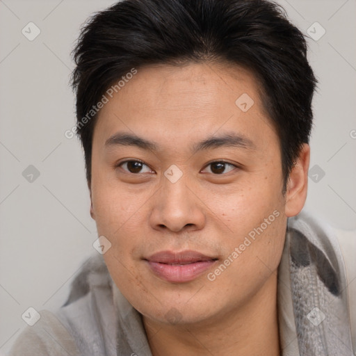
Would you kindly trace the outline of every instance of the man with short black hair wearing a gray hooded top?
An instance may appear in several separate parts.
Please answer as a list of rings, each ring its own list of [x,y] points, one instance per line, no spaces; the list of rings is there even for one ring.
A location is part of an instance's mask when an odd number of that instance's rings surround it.
[[[90,19],[73,85],[104,259],[12,355],[353,355],[353,241],[298,215],[306,52],[269,1],[125,0]]]

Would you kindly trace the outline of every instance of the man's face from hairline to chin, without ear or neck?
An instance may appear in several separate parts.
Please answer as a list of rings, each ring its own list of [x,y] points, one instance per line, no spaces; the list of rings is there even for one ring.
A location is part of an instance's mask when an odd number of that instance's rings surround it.
[[[203,323],[261,291],[284,245],[282,190],[279,139],[240,67],[141,68],[99,113],[91,213],[145,318]]]

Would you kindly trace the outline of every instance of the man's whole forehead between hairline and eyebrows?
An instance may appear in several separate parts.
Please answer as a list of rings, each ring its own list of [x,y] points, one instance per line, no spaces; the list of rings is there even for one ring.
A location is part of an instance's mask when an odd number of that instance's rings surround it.
[[[150,65],[108,98],[94,136],[107,140],[125,129],[156,140],[186,140],[234,130],[244,136],[275,135],[252,72],[232,65]],[[276,137],[274,137],[276,138]]]

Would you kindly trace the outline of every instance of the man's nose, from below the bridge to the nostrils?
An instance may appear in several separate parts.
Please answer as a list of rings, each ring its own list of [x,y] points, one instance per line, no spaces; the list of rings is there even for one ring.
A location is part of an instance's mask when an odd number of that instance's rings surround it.
[[[161,189],[154,196],[154,207],[149,216],[154,229],[181,232],[202,229],[206,223],[204,203],[193,186],[181,177],[175,183],[163,177]],[[196,191],[196,189],[195,189]]]

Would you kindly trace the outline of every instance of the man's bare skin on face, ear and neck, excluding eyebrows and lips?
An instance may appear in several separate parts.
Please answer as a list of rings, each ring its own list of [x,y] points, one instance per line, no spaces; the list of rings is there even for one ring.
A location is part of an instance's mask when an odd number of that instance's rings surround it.
[[[247,112],[235,104],[243,93],[254,100]],[[118,132],[158,149],[106,145]],[[192,152],[192,145],[224,133],[252,146]],[[120,165],[128,159],[144,162],[139,173]],[[216,161],[229,163],[220,174],[209,164]],[[175,183],[164,175],[172,164],[182,172]],[[308,166],[304,145],[283,195],[279,139],[261,105],[259,83],[241,67],[140,68],[102,108],[92,143],[90,213],[99,236],[112,244],[104,254],[108,270],[143,314],[154,356],[280,355],[277,266],[286,219],[305,203]],[[207,274],[273,211],[280,213],[273,223],[209,280]],[[145,261],[162,250],[195,250],[218,261],[191,282],[172,283]]]

